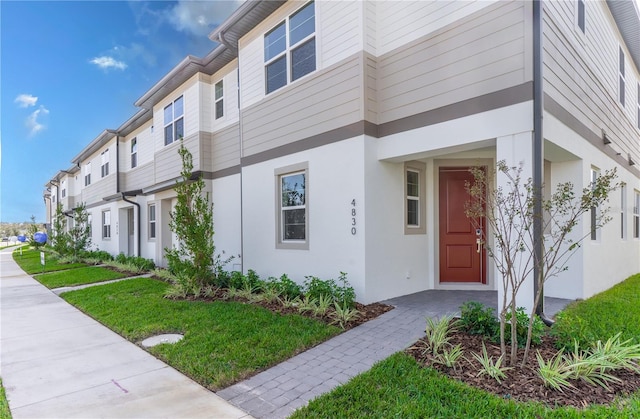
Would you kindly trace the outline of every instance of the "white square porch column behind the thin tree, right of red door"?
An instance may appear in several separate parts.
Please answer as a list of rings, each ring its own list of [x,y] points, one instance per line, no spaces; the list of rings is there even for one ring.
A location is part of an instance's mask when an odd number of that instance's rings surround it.
[[[508,167],[519,167],[522,165],[521,184],[525,184],[529,178],[533,177],[533,132],[527,131],[513,135],[507,135],[504,137],[498,137],[496,139],[496,161],[504,160]],[[507,185],[507,178],[504,175],[498,173],[496,179],[496,186],[503,187],[505,192],[509,191],[509,185]],[[533,249],[533,244],[529,245],[530,249]],[[533,255],[531,255],[533,258]],[[529,255],[523,257],[528,259]],[[529,262],[529,266],[533,266],[533,261]],[[518,271],[516,269],[516,271]],[[503,277],[497,271],[494,272],[496,280],[496,287],[498,289],[498,309],[502,309],[503,297],[504,297],[504,285]],[[520,287],[518,295],[516,296],[516,306],[524,307],[527,313],[530,313],[533,309],[534,303],[534,277],[533,271],[527,277],[525,282]],[[507,297],[510,297],[511,288],[507,289]]]

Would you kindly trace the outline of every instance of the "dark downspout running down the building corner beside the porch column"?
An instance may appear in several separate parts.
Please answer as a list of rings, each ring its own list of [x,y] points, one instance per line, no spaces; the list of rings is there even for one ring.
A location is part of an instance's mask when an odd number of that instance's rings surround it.
[[[542,186],[544,183],[542,6],[542,0],[533,0],[533,253],[535,261],[533,293],[535,296],[540,291],[540,300],[535,310],[536,314],[544,324],[551,326],[554,321],[544,313],[544,288],[542,288],[542,284],[538,284],[540,270],[543,269],[540,261],[543,259],[544,252],[544,232],[542,231]]]

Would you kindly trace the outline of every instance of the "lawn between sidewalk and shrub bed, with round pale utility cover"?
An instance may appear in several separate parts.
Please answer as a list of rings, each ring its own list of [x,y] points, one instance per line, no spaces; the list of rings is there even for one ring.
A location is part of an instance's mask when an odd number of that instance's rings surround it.
[[[160,333],[184,334],[182,341],[150,352],[211,390],[339,333],[337,327],[316,320],[250,304],[168,300],[163,298],[167,287],[164,282],[136,278],[62,297],[134,342]]]

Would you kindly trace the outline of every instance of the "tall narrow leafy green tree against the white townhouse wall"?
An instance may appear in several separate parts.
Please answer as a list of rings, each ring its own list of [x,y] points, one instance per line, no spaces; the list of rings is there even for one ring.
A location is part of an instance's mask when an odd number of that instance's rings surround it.
[[[193,156],[180,140],[182,180],[176,182],[177,203],[171,211],[169,228],[177,238],[177,246],[165,248],[171,273],[188,291],[201,289],[213,279],[215,245],[213,242],[213,204],[203,194],[202,176],[193,179]]]

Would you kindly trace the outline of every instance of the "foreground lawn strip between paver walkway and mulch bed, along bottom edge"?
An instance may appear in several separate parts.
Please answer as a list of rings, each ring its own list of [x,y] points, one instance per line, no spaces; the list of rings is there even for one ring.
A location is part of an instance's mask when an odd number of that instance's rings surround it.
[[[518,403],[451,380],[397,353],[312,400],[291,418],[605,418],[640,417],[640,394],[620,406],[550,409]]]

